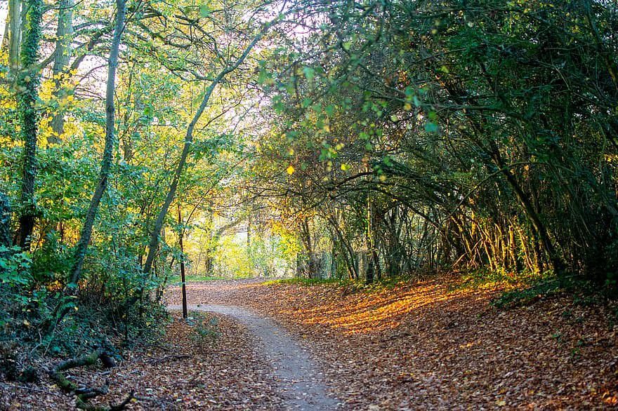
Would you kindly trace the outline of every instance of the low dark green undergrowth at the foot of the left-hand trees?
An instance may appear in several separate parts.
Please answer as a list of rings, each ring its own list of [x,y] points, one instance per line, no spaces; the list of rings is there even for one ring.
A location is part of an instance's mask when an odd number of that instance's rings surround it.
[[[29,253],[0,248],[0,375],[6,379],[32,380],[41,356],[114,353],[162,335],[169,316],[155,301],[157,281],[124,261],[97,260],[74,296],[67,292],[66,264],[44,271],[45,258],[33,264]],[[129,292],[141,285],[142,296]]]

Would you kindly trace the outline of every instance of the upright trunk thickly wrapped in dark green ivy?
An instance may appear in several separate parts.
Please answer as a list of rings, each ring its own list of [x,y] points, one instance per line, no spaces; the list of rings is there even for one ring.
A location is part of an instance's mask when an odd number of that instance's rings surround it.
[[[22,187],[20,198],[20,231],[18,243],[24,250],[29,250],[32,231],[34,230],[34,178],[37,175],[37,134],[39,116],[37,97],[39,89],[39,72],[37,58],[41,40],[41,19],[43,18],[43,1],[28,1],[28,11],[24,30],[24,42],[21,50],[23,70],[17,81],[18,112],[21,137],[24,140],[24,163],[22,170]],[[15,34],[13,33],[13,36]]]

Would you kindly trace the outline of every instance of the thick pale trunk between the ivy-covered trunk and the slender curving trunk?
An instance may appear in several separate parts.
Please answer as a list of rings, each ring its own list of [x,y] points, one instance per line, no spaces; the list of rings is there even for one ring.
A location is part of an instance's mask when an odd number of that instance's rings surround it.
[[[71,60],[71,41],[73,34],[73,0],[58,1],[58,28],[56,29],[55,54],[53,57],[53,96],[56,100],[62,97],[63,81],[67,73],[67,67]],[[60,135],[65,131],[65,116],[63,110],[58,109],[51,119],[53,131],[48,142],[58,144]]]

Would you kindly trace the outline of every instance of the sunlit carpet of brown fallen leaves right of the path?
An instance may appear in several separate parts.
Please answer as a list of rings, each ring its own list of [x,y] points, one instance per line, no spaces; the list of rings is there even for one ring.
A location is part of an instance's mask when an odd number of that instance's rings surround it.
[[[333,285],[195,283],[190,304],[250,306],[315,353],[347,409],[614,407],[618,328],[568,297],[500,311],[497,290],[425,281],[380,292]],[[178,304],[177,289],[167,299]]]

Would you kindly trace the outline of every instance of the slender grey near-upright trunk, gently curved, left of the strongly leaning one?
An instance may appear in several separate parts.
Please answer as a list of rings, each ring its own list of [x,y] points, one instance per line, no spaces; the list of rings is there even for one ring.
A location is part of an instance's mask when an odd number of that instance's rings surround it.
[[[118,54],[122,32],[124,30],[124,16],[126,13],[126,0],[116,0],[116,25],[114,27],[114,38],[110,48],[110,59],[107,67],[107,89],[105,90],[105,149],[103,150],[103,160],[99,173],[99,182],[92,196],[84,227],[81,229],[79,241],[75,248],[74,262],[71,269],[71,283],[77,284],[81,276],[81,266],[86,257],[86,248],[92,236],[92,228],[97,215],[99,203],[103,193],[107,188],[107,177],[112,168],[112,154],[114,150],[114,89],[116,86],[116,69],[118,67]]]

